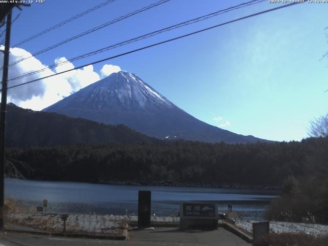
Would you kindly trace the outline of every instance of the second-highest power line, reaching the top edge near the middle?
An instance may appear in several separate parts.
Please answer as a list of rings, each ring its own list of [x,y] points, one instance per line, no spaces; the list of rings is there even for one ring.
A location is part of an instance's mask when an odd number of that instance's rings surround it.
[[[28,58],[31,58],[31,57],[35,56],[35,55],[39,55],[39,54],[42,54],[42,53],[44,53],[44,52],[46,52],[46,51],[52,50],[52,49],[54,49],[54,48],[56,48],[56,47],[58,47],[58,46],[60,46],[60,45],[64,45],[64,44],[66,44],[66,43],[68,43],[68,42],[70,42],[70,41],[72,41],[72,40],[74,40],[74,39],[76,39],[76,38],[79,38],[79,37],[82,37],[82,36],[87,35],[87,34],[89,34],[89,33],[95,32],[95,31],[97,31],[97,30],[99,30],[99,29],[101,29],[101,28],[104,28],[104,27],[107,27],[107,26],[109,26],[109,25],[112,25],[112,24],[114,24],[114,23],[116,23],[116,22],[119,22],[119,21],[122,20],[122,19],[126,19],[126,18],[128,18],[128,17],[130,17],[130,16],[133,16],[133,15],[138,14],[138,13],[140,13],[140,12],[144,12],[144,11],[146,11],[146,10],[148,10],[148,9],[151,9],[151,8],[153,8],[153,7],[156,7],[156,6],[160,5],[160,4],[163,4],[163,3],[166,3],[166,2],[169,2],[169,1],[171,1],[171,0],[160,0],[159,2],[156,2],[156,3],[154,3],[154,4],[151,4],[151,5],[146,6],[146,7],[144,7],[144,8],[138,9],[138,10],[136,10],[136,11],[134,11],[134,12],[131,12],[131,13],[126,14],[126,15],[124,15],[124,16],[121,16],[121,17],[119,17],[119,18],[113,19],[113,20],[111,20],[110,22],[107,22],[107,23],[102,24],[102,25],[100,25],[100,26],[94,27],[94,28],[92,28],[92,29],[90,29],[90,30],[88,30],[88,31],[85,31],[85,32],[80,33],[80,34],[77,34],[77,35],[75,35],[75,36],[73,36],[73,37],[70,37],[70,38],[68,38],[68,39],[65,39],[64,41],[61,41],[61,42],[59,42],[59,43],[57,43],[57,44],[54,44],[54,45],[52,45],[52,46],[49,46],[49,47],[47,47],[47,48],[45,48],[45,49],[43,49],[43,50],[37,51],[36,53],[32,54],[31,56],[28,56],[28,57],[25,57],[25,58],[22,58],[22,59],[16,60],[16,61],[14,61],[13,63],[9,64],[9,67],[10,67],[10,66],[13,66],[13,65],[15,65],[15,64],[17,64],[17,63],[20,63],[20,61],[26,60],[26,59],[28,59]],[[1,69],[0,69],[0,70],[1,70]]]

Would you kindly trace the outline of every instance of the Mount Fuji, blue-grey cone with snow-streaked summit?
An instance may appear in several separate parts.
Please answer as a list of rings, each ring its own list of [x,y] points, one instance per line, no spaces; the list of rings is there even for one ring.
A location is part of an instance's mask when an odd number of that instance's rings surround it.
[[[211,126],[175,106],[133,73],[112,73],[45,108],[103,124],[124,124],[160,139],[246,143],[268,141]]]

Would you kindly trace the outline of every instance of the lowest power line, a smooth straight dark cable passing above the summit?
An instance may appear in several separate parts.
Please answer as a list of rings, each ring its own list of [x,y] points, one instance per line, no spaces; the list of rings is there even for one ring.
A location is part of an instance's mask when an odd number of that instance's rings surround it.
[[[292,6],[292,5],[296,5],[296,4],[299,4],[299,2],[282,5],[282,6],[279,6],[279,7],[276,7],[276,8],[264,10],[264,11],[261,11],[261,12],[257,12],[255,14],[251,14],[251,15],[247,15],[247,16],[240,17],[240,18],[237,18],[237,19],[233,19],[233,20],[230,20],[229,22],[224,22],[224,23],[221,23],[221,24],[218,24],[218,25],[215,25],[215,26],[211,26],[211,27],[208,27],[208,28],[205,28],[205,29],[201,29],[201,30],[198,30],[198,31],[195,31],[195,32],[191,32],[191,33],[188,33],[188,34],[185,34],[185,35],[181,35],[181,36],[178,36],[178,37],[170,38],[170,39],[164,40],[164,41],[159,42],[159,43],[155,43],[155,44],[152,44],[152,45],[144,46],[144,47],[139,48],[139,49],[131,50],[131,51],[128,51],[128,52],[125,52],[125,53],[121,53],[121,54],[118,54],[118,55],[115,55],[115,56],[111,56],[111,57],[108,57],[108,58],[105,58],[105,59],[97,60],[97,61],[94,61],[92,63],[85,64],[83,66],[79,66],[77,68],[72,68],[72,69],[65,70],[63,72],[55,73],[55,74],[52,74],[52,75],[48,75],[48,76],[45,76],[45,77],[42,77],[42,78],[33,79],[33,80],[27,81],[27,82],[22,83],[22,84],[18,84],[18,85],[15,85],[15,86],[8,87],[7,89],[11,89],[11,88],[15,88],[15,87],[18,87],[18,86],[27,85],[27,84],[33,83],[35,81],[38,81],[38,80],[42,80],[42,79],[45,79],[45,78],[56,76],[56,75],[59,75],[59,74],[62,74],[62,73],[67,73],[67,72],[70,72],[70,71],[73,71],[73,70],[76,70],[76,69],[80,69],[80,68],[87,67],[87,66],[90,66],[90,65],[93,65],[93,64],[101,63],[101,62],[106,61],[106,60],[110,60],[110,59],[114,59],[114,58],[117,58],[117,57],[120,57],[120,56],[128,55],[128,54],[131,54],[131,53],[134,53],[134,52],[137,52],[137,51],[140,51],[140,50],[145,50],[145,49],[148,49],[148,48],[151,48],[151,47],[154,47],[154,46],[158,46],[158,45],[162,45],[162,44],[165,44],[165,43],[169,43],[169,42],[172,42],[173,40],[181,39],[183,37],[188,37],[188,36],[191,36],[191,35],[200,33],[200,32],[211,30],[211,29],[216,28],[216,27],[220,27],[220,26],[227,25],[227,24],[230,24],[230,23],[238,22],[239,20],[242,20],[242,19],[247,19],[247,18],[250,18],[250,17],[254,17],[254,16],[257,16],[257,15],[260,15],[260,14],[264,14],[264,13],[268,13],[268,12],[272,12],[272,11],[275,11],[275,10],[278,10],[278,9],[282,9],[282,8],[286,8],[286,7],[289,7],[289,6]]]

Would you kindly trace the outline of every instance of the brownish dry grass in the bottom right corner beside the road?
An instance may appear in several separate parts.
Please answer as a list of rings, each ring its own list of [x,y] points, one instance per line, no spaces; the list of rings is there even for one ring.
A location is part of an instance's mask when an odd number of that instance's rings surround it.
[[[256,243],[257,246],[327,246],[328,235],[314,236],[309,234],[270,233]]]

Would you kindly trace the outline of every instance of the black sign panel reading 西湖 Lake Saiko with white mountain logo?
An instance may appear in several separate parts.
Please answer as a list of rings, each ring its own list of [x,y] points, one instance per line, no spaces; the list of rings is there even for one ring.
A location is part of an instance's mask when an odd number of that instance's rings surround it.
[[[183,216],[215,217],[215,204],[183,203]]]

